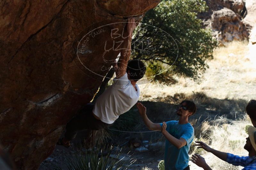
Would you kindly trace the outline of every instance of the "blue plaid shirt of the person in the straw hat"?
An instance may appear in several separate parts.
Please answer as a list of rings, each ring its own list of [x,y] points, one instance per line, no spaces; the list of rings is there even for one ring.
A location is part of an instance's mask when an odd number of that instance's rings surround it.
[[[226,162],[235,165],[235,166],[243,166],[242,170],[256,170],[256,156],[237,156],[231,153],[227,154]]]

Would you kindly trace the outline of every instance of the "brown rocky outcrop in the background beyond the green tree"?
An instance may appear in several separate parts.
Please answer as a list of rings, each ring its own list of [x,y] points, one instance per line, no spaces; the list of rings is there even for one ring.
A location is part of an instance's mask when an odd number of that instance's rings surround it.
[[[209,10],[199,14],[198,17],[203,20],[203,27],[212,29],[213,36],[220,44],[232,40],[248,40],[255,24],[255,22],[247,22],[248,18],[255,15],[252,10],[255,8],[253,1],[206,0]]]

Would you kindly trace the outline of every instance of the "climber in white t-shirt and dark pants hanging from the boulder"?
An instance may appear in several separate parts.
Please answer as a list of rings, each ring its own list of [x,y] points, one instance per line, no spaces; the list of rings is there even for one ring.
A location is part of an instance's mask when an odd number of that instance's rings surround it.
[[[108,128],[137,103],[140,89],[136,83],[144,76],[146,66],[140,60],[130,60],[132,32],[135,27],[134,18],[128,18],[121,56],[117,63],[113,63],[116,72],[114,83],[96,99],[94,105],[87,104],[77,117],[68,122],[65,137],[59,139],[57,145],[69,147],[77,131]]]

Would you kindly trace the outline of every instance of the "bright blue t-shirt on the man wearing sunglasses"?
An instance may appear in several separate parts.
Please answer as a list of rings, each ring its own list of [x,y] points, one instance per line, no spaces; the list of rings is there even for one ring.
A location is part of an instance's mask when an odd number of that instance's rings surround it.
[[[179,121],[172,120],[166,122],[168,131],[173,137],[184,138],[187,145],[178,149],[172,145],[167,139],[165,140],[164,166],[165,170],[183,170],[188,166],[188,152],[190,145],[194,139],[194,128],[190,123],[179,124]],[[162,123],[160,123],[163,126]]]

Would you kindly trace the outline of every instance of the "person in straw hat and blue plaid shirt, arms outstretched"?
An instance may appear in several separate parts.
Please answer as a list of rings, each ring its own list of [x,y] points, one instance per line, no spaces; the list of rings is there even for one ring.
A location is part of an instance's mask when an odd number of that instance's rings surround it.
[[[242,170],[256,170],[256,128],[250,126],[248,128],[249,137],[246,138],[246,144],[244,145],[244,149],[249,152],[249,156],[238,156],[233,155],[231,153],[220,152],[217,150],[212,149],[204,142],[196,142],[198,143],[196,146],[198,148],[203,148],[207,152],[213,153],[218,158],[228,162],[229,164],[235,166],[243,166]],[[211,170],[211,167],[207,165],[204,158],[199,154],[192,155],[192,162],[195,163],[197,166],[202,167],[204,170]]]

